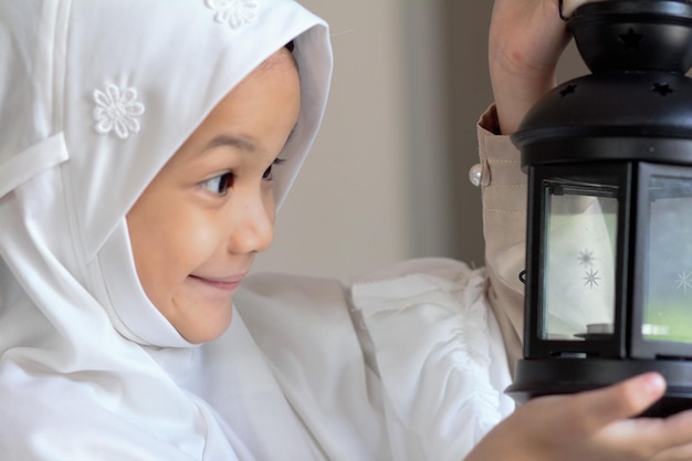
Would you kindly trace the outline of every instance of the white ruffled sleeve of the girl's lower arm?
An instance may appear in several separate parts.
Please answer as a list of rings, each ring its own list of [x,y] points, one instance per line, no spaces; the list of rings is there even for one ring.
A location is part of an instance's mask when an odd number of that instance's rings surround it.
[[[392,460],[463,459],[514,409],[484,270],[420,259],[355,282],[352,315],[371,344]]]

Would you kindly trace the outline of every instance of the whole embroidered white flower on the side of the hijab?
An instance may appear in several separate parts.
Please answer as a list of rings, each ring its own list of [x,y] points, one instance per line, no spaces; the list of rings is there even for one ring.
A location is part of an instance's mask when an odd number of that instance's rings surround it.
[[[144,104],[137,102],[137,91],[109,84],[106,91],[94,90],[94,119],[96,132],[106,135],[113,130],[120,139],[133,133],[139,133],[137,116],[144,114]]]

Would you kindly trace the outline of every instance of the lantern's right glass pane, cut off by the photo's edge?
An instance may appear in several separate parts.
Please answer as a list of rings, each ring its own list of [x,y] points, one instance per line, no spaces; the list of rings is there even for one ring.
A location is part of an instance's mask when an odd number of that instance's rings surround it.
[[[649,179],[642,336],[692,343],[692,179]]]

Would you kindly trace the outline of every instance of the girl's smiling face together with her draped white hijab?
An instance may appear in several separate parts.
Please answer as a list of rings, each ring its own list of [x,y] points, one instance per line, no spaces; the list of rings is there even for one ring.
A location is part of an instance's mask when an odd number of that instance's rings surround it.
[[[323,114],[326,25],[287,0],[7,0],[0,23],[0,458],[311,459],[228,327]]]

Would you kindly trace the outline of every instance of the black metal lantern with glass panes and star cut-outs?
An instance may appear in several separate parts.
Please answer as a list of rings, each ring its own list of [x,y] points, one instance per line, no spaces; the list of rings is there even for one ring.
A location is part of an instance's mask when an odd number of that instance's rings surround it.
[[[657,370],[647,415],[692,408],[692,4],[609,0],[569,19],[590,75],[532,108],[524,359],[530,398]]]

